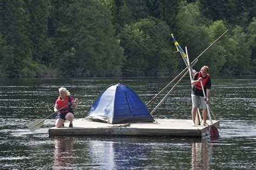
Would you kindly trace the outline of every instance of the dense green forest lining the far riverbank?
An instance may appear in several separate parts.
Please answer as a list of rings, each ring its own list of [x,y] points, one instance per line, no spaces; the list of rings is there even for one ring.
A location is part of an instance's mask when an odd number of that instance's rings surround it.
[[[175,76],[194,66],[215,75],[256,70],[254,0],[2,0],[0,77]]]

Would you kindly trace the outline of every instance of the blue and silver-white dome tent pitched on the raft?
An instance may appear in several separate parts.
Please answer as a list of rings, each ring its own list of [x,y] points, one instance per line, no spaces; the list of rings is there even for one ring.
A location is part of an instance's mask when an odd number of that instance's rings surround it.
[[[108,124],[154,121],[139,96],[120,83],[110,85],[100,93],[85,119],[104,121]]]

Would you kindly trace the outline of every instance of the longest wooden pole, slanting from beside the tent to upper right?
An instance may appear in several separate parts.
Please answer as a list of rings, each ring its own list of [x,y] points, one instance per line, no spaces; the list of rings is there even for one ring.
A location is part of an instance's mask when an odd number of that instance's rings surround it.
[[[191,62],[191,65],[192,65],[192,64],[195,64],[195,62],[199,59],[199,57],[201,57],[201,56],[203,55],[203,53],[205,53],[213,44],[215,44],[221,37],[223,37],[223,36],[225,35],[225,33],[227,33],[227,31],[228,31],[228,30],[226,30],[221,36],[219,36],[219,38],[217,38],[216,40],[214,40],[214,42],[213,42],[211,45],[209,45],[203,52],[201,52],[200,55],[199,55],[196,59],[194,59],[193,62]],[[181,71],[181,72],[178,74],[178,76],[176,76],[169,84],[167,84],[159,93],[157,93],[156,96],[154,96],[154,97],[146,104],[146,106],[149,106],[154,100],[156,100],[156,98],[157,98],[165,89],[167,89],[167,87],[169,87],[170,84],[172,84],[174,80],[176,80],[180,75],[184,74],[186,70],[187,70],[187,67],[186,67],[183,71]]]

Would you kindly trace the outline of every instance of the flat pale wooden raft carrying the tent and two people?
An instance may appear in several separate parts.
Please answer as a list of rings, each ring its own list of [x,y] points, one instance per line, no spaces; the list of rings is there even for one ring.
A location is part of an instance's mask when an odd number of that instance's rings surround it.
[[[210,121],[207,120],[210,125]],[[213,120],[219,127],[219,121]],[[210,134],[210,126],[192,126],[186,119],[156,119],[153,123],[107,124],[86,119],[75,119],[73,127],[65,123],[65,127],[52,127],[50,136],[56,135],[134,135],[134,136],[172,136],[202,138]]]

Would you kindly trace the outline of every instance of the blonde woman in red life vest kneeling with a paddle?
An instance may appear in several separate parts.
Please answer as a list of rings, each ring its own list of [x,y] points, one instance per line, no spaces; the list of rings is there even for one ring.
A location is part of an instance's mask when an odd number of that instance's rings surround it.
[[[70,96],[70,92],[66,90],[65,87],[60,87],[59,97],[56,100],[55,107],[54,107],[55,112],[59,111],[55,120],[56,127],[64,126],[65,120],[69,120],[70,121],[69,127],[73,127],[74,113],[71,108],[71,105],[66,106],[72,103],[72,101],[73,101],[73,97]],[[72,103],[72,106],[73,108],[77,108],[77,105],[78,105],[78,99],[76,98],[75,102]],[[64,108],[59,110],[62,107]]]

